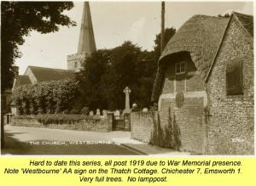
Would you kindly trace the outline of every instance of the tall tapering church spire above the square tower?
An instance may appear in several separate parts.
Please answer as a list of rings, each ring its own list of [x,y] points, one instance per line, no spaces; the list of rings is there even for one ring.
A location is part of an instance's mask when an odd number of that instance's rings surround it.
[[[80,28],[78,54],[91,54],[96,51],[89,2],[84,2]]]

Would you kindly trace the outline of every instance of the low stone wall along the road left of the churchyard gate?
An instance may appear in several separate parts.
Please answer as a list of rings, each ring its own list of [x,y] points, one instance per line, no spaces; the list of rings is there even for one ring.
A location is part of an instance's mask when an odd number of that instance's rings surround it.
[[[96,131],[108,132],[112,131],[112,120],[108,120],[108,116],[88,116],[84,120],[72,124],[43,124],[35,119],[34,116],[16,116],[10,124],[20,127],[44,127],[54,129],[80,130],[80,131]]]

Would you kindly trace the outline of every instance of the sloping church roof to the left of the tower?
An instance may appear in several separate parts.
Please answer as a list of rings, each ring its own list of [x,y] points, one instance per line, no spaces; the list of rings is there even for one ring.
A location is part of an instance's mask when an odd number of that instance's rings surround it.
[[[32,70],[37,82],[57,81],[75,77],[75,72],[73,70],[53,69],[38,66],[28,66],[27,68]]]

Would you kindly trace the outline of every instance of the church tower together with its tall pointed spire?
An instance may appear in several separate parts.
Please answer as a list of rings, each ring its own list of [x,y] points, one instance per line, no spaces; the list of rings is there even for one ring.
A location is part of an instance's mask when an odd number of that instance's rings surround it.
[[[67,55],[67,70],[80,71],[84,59],[96,51],[89,2],[84,2],[77,54]]]

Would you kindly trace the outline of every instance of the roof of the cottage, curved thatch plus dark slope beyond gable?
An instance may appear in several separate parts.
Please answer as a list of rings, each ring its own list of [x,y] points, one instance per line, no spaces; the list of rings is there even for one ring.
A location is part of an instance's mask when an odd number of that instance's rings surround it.
[[[233,14],[236,15],[241,25],[252,34],[253,16]],[[160,96],[161,85],[164,81],[163,64],[168,61],[167,59],[172,58],[172,55],[189,52],[195,67],[201,71],[202,79],[207,78],[230,19],[231,17],[194,15],[178,29],[177,33],[166,44],[166,48],[160,56],[151,98],[153,101],[157,100]]]

